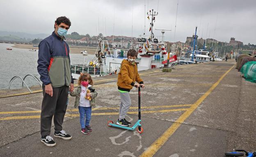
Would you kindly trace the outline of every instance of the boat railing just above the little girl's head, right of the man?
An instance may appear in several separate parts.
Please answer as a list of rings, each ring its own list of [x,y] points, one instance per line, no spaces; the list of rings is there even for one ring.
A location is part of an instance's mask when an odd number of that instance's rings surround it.
[[[101,75],[107,75],[107,73],[104,72],[102,66],[83,66],[83,65],[71,65],[71,73],[78,74],[80,73],[89,73],[92,76],[101,76]]]

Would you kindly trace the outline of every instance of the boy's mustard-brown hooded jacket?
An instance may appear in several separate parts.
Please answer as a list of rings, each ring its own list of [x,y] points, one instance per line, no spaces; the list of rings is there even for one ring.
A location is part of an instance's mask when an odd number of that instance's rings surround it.
[[[121,91],[128,91],[133,88],[135,81],[143,84],[143,80],[139,77],[136,64],[131,64],[128,60],[123,60],[121,70],[118,73],[117,86]]]

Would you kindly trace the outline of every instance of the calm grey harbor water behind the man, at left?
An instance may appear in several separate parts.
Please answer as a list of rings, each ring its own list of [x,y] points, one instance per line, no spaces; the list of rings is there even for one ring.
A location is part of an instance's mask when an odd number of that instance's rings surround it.
[[[29,51],[29,49],[17,49],[11,47],[13,44],[0,43],[0,89],[7,89],[12,77],[20,76],[22,78],[27,74],[40,78],[37,72],[38,50]],[[7,50],[11,48],[12,50]],[[84,56],[82,54],[70,54],[71,64],[82,64],[89,62],[94,55]],[[26,77],[25,83],[28,86],[38,85],[38,82],[31,76]],[[16,78],[10,88],[17,89],[22,87],[22,81]]]

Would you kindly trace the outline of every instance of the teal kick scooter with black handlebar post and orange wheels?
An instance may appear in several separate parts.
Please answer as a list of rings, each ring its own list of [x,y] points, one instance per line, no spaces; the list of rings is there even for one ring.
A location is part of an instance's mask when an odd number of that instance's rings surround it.
[[[111,120],[107,122],[108,126],[114,126],[114,127],[117,127],[117,128],[123,128],[123,129],[126,129],[126,130],[134,130],[138,126],[138,128],[137,128],[138,133],[143,133],[143,128],[141,127],[141,113],[140,113],[140,87],[141,86],[139,86],[139,88],[138,88],[138,112],[139,112],[138,117],[139,117],[139,119],[134,124],[134,126],[130,128],[129,126],[117,125],[117,124],[114,124],[114,122],[111,121]]]

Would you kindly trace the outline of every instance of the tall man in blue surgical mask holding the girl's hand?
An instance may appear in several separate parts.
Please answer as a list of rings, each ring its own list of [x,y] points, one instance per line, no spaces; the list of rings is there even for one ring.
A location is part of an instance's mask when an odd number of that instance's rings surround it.
[[[74,88],[70,70],[69,46],[64,41],[64,35],[70,26],[71,22],[65,16],[57,18],[52,35],[39,44],[37,71],[43,82],[41,142],[46,146],[56,145],[50,136],[52,119],[55,125],[54,137],[72,138],[71,135],[62,130],[67,97],[69,91],[73,91]]]

